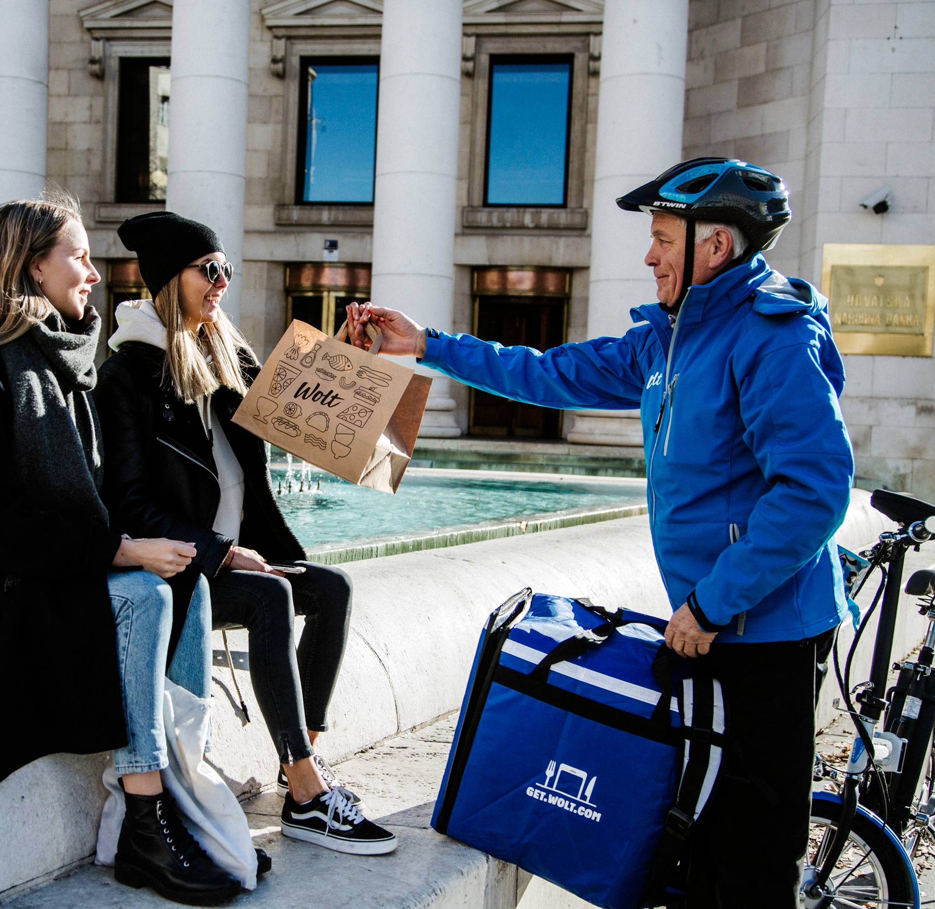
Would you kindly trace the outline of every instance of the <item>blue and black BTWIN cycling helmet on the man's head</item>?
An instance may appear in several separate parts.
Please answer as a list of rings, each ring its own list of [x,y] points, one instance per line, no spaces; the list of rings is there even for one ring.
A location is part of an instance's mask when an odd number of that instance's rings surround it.
[[[736,224],[751,252],[771,249],[792,218],[780,177],[735,158],[693,158],[617,199],[626,211],[669,211],[687,221]]]

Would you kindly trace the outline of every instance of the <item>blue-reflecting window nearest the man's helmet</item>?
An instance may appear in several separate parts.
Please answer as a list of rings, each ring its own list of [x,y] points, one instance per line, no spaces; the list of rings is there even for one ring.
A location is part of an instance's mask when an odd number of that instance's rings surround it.
[[[491,65],[487,205],[565,205],[571,63]]]

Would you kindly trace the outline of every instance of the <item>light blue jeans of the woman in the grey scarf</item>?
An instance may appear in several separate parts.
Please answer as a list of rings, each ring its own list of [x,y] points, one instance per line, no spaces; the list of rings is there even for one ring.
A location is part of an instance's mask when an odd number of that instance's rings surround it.
[[[211,686],[211,600],[199,576],[168,672],[172,590],[150,571],[108,572],[110,608],[117,627],[117,658],[128,743],[114,752],[118,776],[168,766],[163,728],[165,676],[199,698]]]

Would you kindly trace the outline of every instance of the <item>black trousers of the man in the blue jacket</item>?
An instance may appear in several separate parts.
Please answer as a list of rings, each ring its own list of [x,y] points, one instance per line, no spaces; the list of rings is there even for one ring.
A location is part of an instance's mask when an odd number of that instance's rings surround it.
[[[693,832],[687,909],[798,909],[808,846],[814,709],[834,630],[805,641],[712,644],[731,744]]]

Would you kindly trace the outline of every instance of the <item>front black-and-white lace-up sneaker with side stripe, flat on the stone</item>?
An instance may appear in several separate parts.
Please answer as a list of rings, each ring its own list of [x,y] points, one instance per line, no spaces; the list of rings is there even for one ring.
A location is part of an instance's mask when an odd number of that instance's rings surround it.
[[[282,806],[282,832],[336,852],[382,856],[396,849],[396,835],[368,821],[339,786],[299,804],[288,792]]]

